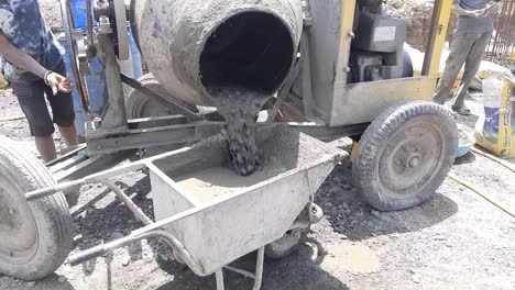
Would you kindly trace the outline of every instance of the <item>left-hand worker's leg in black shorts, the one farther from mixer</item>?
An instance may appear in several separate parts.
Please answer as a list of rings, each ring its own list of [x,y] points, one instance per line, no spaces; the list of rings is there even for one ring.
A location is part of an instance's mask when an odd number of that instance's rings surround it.
[[[32,136],[35,137],[37,152],[44,161],[56,158],[54,124],[46,108],[44,91],[46,85],[42,80],[19,81],[12,83],[18,102],[29,121]]]

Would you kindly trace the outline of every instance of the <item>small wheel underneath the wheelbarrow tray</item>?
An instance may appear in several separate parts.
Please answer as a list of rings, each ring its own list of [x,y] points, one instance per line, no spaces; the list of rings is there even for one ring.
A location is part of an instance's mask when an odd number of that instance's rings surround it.
[[[282,259],[295,253],[306,237],[306,231],[295,228],[288,231],[280,239],[265,246],[265,257],[269,259]]]

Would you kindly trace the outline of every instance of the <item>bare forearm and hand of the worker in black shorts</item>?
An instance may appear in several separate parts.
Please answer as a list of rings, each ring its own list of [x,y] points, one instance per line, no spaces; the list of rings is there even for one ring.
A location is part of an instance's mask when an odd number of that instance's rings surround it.
[[[57,91],[72,91],[72,82],[69,78],[65,78],[56,72],[50,71],[40,65],[34,58],[24,52],[14,47],[4,35],[0,34],[0,55],[2,55],[12,65],[30,71],[37,77],[45,79],[54,93]]]

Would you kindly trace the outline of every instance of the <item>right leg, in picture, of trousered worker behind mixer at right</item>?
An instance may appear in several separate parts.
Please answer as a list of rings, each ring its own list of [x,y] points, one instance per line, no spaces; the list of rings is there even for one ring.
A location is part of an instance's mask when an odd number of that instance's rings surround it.
[[[486,46],[490,43],[491,36],[491,32],[479,34],[478,40],[475,41],[474,45],[472,45],[472,49],[467,56],[464,74],[463,78],[461,79],[461,85],[456,91],[454,97],[452,98],[452,109],[459,110],[463,108],[464,98],[469,91],[473,78],[475,77],[475,74],[478,74],[484,51],[486,49]]]

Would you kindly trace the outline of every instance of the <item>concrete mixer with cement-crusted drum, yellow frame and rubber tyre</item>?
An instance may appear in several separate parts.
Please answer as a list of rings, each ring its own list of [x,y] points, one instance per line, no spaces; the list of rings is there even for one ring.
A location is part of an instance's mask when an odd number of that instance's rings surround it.
[[[207,91],[212,86],[273,96],[262,109],[266,121],[258,126],[281,122],[319,140],[360,141],[355,183],[380,210],[427,200],[452,164],[454,122],[442,108],[423,102],[431,100],[436,87],[448,1],[435,2],[419,77],[404,52],[406,23],[384,13],[382,1],[87,3],[84,36],[74,29],[68,1],[62,1],[73,72],[87,111],[84,77],[89,60],[98,57],[109,104],[86,124],[87,147],[75,160],[84,164],[87,157],[87,165],[56,169],[59,179],[97,170],[98,160],[107,160],[101,156],[171,144],[177,148],[218,134],[226,123],[212,108]],[[121,74],[117,63],[129,56],[128,20],[150,71],[140,80]],[[122,86],[132,90],[124,96]],[[145,103],[168,108],[168,115],[134,108]]]

